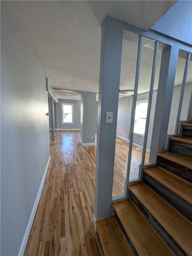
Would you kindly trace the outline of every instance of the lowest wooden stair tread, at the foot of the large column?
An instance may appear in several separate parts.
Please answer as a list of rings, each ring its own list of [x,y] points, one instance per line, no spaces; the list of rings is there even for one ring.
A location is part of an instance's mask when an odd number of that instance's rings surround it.
[[[134,256],[115,217],[96,221],[96,226],[105,256]]]

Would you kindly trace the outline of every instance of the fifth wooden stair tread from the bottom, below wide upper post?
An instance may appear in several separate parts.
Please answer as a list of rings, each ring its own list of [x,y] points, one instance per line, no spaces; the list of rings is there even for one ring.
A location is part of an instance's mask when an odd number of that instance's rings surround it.
[[[192,169],[192,158],[183,156],[180,154],[172,153],[169,151],[166,152],[157,152],[157,156],[163,157],[167,160],[170,160],[174,163],[180,164],[184,167]]]

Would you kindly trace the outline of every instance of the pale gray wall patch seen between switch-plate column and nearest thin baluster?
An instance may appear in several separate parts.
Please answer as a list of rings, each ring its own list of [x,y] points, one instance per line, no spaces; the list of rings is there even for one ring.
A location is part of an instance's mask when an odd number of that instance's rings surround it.
[[[133,97],[119,98],[117,114],[117,135],[129,138]]]

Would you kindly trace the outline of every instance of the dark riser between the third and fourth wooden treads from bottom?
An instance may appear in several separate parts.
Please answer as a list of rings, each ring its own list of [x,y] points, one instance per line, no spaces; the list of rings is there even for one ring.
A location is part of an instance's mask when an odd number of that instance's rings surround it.
[[[192,205],[144,173],[143,182],[192,222]]]

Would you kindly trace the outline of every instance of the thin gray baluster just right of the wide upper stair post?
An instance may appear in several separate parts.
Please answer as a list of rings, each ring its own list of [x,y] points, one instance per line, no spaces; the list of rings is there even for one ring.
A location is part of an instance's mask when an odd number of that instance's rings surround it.
[[[180,120],[180,116],[181,116],[181,108],[182,108],[183,96],[184,96],[184,92],[185,92],[185,85],[186,85],[186,80],[187,80],[187,72],[188,72],[188,68],[189,68],[190,56],[191,56],[191,53],[188,52],[186,62],[185,62],[183,82],[182,82],[181,94],[180,94],[180,99],[179,99],[179,107],[178,107],[177,119],[176,119],[176,125],[175,125],[175,134],[178,134],[179,120]]]

